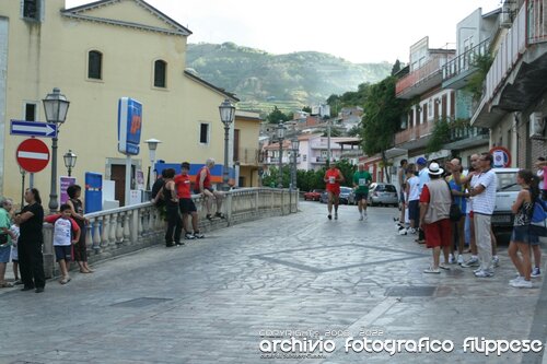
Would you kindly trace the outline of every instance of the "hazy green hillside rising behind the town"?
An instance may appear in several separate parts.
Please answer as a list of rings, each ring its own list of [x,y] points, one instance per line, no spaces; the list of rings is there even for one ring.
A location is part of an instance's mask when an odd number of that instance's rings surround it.
[[[186,67],[199,78],[233,92],[238,107],[283,111],[325,102],[331,94],[356,91],[361,83],[387,77],[392,64],[351,63],[331,55],[299,51],[272,55],[233,43],[189,44]]]

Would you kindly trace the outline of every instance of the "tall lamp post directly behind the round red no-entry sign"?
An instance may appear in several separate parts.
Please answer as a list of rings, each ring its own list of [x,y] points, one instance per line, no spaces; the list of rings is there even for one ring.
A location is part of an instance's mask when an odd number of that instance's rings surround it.
[[[57,125],[57,133],[59,133],[60,125],[67,118],[68,107],[70,102],[61,94],[58,87],[54,87],[53,93],[47,94],[46,98],[42,101],[44,104],[44,111],[46,113],[47,122],[55,122]],[[56,212],[59,208],[57,199],[57,136],[51,139],[51,188],[49,190],[49,212]]]

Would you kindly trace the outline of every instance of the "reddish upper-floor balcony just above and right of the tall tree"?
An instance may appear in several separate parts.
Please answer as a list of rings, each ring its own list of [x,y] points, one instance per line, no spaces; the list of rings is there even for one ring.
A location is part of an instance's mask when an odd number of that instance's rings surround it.
[[[395,95],[398,98],[412,98],[442,83],[442,67],[446,64],[454,55],[445,52],[435,55],[423,66],[408,73],[395,85]]]

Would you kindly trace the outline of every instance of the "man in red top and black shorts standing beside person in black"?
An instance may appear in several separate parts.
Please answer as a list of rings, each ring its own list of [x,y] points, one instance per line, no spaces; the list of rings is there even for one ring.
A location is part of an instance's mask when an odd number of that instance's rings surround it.
[[[178,208],[181,210],[182,219],[183,219],[183,228],[186,232],[186,239],[195,239],[195,238],[203,238],[203,234],[199,232],[199,223],[198,223],[198,212],[196,209],[196,204],[191,199],[191,188],[190,188],[190,176],[188,172],[190,171],[190,164],[188,162],[183,162],[181,164],[181,174],[175,177],[175,188],[176,195],[178,198]],[[186,228],[186,221],[188,220],[188,215],[191,218],[191,227],[194,230],[194,235],[188,232]]]

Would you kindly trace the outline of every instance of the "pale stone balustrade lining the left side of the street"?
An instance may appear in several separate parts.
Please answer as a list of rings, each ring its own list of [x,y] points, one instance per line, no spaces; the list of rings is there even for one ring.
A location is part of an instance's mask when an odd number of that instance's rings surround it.
[[[286,215],[298,211],[299,191],[275,188],[242,188],[225,192],[222,212],[225,219],[206,219],[201,196],[193,197],[198,208],[200,232],[228,227],[245,221]],[[216,203],[212,204],[212,213]],[[166,223],[162,212],[151,202],[85,214],[90,262],[164,244]],[[189,221],[187,222],[189,226]],[[58,267],[53,248],[53,225],[44,224],[44,270],[47,278],[56,275]]]

